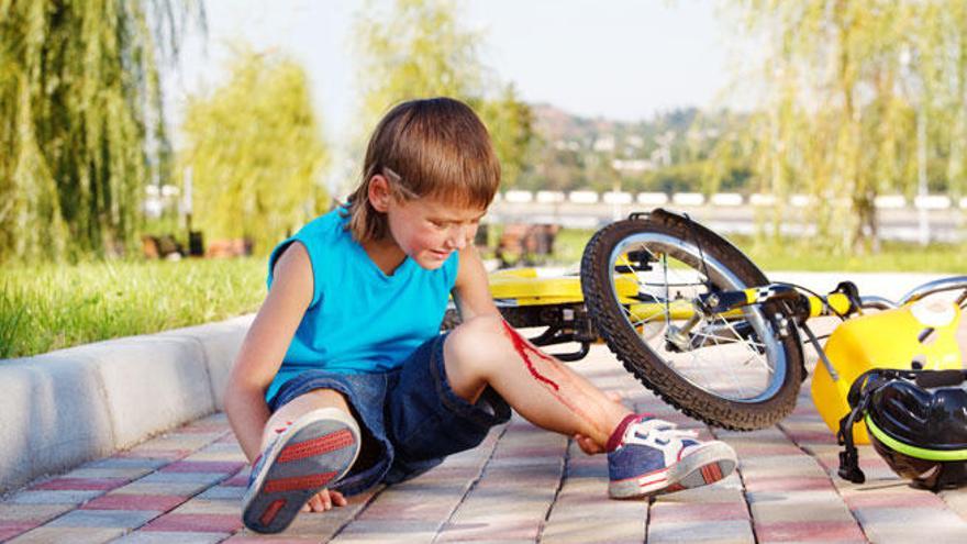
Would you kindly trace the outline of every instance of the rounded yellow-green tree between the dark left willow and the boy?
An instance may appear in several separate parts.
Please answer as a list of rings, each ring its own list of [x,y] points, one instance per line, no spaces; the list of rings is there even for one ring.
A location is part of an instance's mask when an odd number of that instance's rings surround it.
[[[266,252],[327,207],[329,152],[302,66],[238,49],[230,71],[189,99],[178,163],[191,169],[193,218],[208,238],[245,237]]]

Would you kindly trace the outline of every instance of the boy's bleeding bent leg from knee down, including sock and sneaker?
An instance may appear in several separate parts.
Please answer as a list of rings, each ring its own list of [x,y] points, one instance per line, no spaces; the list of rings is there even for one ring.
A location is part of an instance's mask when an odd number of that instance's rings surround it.
[[[643,498],[712,484],[736,465],[719,441],[635,415],[559,360],[537,351],[497,317],[479,317],[447,337],[444,362],[454,392],[469,401],[487,386],[532,423],[580,435],[589,453],[608,452],[609,495]]]

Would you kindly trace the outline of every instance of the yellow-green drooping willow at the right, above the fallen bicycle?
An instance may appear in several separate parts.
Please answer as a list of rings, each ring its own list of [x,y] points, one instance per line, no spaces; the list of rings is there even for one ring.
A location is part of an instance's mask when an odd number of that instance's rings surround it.
[[[869,248],[876,196],[913,196],[927,162],[945,163],[930,171],[963,190],[963,0],[731,3],[762,46],[763,106],[749,125],[756,177],[779,197],[814,197],[818,240]],[[783,214],[774,210],[776,224]]]

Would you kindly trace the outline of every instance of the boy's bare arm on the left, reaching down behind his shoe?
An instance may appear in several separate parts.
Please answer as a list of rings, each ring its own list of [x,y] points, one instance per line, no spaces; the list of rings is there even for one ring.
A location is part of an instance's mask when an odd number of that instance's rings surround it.
[[[312,301],[312,265],[305,247],[292,243],[276,262],[271,289],[255,315],[225,388],[225,413],[245,456],[254,462],[269,418],[265,390]]]

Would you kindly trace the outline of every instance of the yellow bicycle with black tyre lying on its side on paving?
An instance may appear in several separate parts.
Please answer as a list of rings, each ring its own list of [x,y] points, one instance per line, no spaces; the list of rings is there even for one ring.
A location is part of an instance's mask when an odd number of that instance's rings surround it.
[[[577,342],[577,351],[555,354],[577,360],[603,341],[666,402],[724,429],[763,429],[792,412],[808,375],[804,343],[819,354],[812,395],[834,433],[863,371],[962,365],[955,332],[967,276],[924,284],[897,302],[862,297],[848,281],[823,296],[769,282],[725,238],[664,209],[598,231],[579,276],[520,269],[490,278],[512,326],[546,327],[534,344]],[[956,290],[955,301],[927,300]],[[819,317],[842,320],[824,344],[808,324]],[[855,435],[866,442],[858,426]]]

